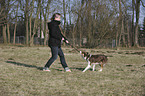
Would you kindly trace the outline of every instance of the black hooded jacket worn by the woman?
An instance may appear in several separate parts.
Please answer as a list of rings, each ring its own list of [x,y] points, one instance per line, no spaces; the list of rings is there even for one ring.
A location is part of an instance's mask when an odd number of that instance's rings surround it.
[[[52,20],[48,23],[49,29],[49,40],[48,46],[49,47],[61,47],[61,40],[66,38],[61,34],[61,30],[59,28],[60,21]]]

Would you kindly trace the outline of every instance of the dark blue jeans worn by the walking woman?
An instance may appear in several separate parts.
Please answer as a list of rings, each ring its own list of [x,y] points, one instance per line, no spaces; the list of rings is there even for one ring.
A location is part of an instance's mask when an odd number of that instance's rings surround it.
[[[45,67],[49,68],[50,65],[57,59],[57,56],[60,57],[62,67],[63,68],[68,67],[67,64],[66,64],[65,57],[64,57],[62,49],[59,48],[59,47],[50,47],[50,48],[51,48],[52,57],[48,60]]]

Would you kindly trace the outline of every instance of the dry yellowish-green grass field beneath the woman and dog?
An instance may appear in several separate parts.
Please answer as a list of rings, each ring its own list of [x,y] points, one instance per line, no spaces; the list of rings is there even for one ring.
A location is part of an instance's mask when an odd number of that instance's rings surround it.
[[[83,73],[87,62],[63,48],[72,72],[64,72],[59,58],[43,72],[48,47],[0,45],[0,96],[145,96],[145,50],[81,50],[109,56],[108,64]]]

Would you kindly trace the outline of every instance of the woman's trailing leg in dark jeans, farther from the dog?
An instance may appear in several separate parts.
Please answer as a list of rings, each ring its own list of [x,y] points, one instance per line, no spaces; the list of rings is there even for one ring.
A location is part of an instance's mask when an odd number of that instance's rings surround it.
[[[47,68],[49,68],[50,65],[57,59],[58,47],[51,47],[51,54],[52,54],[52,57],[48,60],[48,62],[45,65],[45,67]]]

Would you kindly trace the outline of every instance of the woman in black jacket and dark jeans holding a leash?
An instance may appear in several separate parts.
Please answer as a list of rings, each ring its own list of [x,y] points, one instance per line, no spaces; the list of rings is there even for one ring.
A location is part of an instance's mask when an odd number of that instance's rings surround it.
[[[49,41],[48,46],[51,48],[52,57],[48,60],[46,65],[43,68],[43,71],[50,71],[50,65],[57,59],[59,55],[62,67],[65,69],[66,72],[71,72],[68,68],[63,51],[61,49],[61,40],[69,43],[68,40],[62,35],[60,30],[60,22],[61,21],[61,14],[55,13],[52,18],[51,22],[48,23],[49,29]]]

